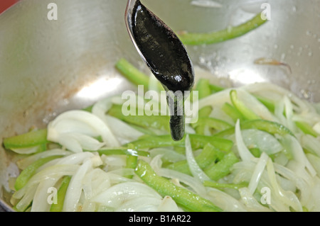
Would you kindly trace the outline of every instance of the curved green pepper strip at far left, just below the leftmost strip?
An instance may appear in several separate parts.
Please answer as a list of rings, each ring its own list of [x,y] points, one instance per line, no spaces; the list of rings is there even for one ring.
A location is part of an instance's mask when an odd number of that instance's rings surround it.
[[[26,183],[28,183],[29,179],[31,179],[31,177],[36,173],[36,170],[40,166],[60,157],[62,156],[54,155],[43,159],[38,159],[36,162],[33,162],[33,164],[30,164],[28,167],[26,167],[26,169],[23,169],[23,171],[21,171],[21,174],[17,177],[16,183],[14,183],[14,188],[16,188],[16,191],[26,186]]]

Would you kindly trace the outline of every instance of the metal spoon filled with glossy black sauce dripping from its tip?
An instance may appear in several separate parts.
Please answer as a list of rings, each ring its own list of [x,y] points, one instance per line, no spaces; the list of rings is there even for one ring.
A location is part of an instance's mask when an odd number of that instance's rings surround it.
[[[167,93],[173,140],[185,132],[184,100],[194,83],[193,65],[186,48],[171,28],[139,0],[129,0],[125,22],[137,51]]]

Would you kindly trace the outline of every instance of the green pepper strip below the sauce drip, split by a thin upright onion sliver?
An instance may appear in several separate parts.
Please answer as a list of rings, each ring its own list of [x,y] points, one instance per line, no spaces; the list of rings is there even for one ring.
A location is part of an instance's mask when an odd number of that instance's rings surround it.
[[[198,166],[201,169],[206,169],[206,167],[208,167],[210,164],[215,162],[215,160],[222,159],[225,154],[226,152],[220,151],[219,149],[213,147],[213,145],[207,144],[203,148],[202,152],[195,157],[195,159]],[[169,166],[167,166],[167,168],[174,169],[183,174],[188,174],[192,176],[192,173],[188,166],[188,162],[186,160],[174,162],[173,164],[170,164]]]

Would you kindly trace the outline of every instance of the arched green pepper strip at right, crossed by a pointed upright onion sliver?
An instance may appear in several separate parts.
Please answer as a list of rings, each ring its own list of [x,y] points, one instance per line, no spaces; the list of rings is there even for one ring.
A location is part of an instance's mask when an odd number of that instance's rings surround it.
[[[272,122],[270,120],[248,120],[245,122],[240,123],[241,130],[247,130],[247,129],[257,129],[262,130],[265,132],[269,132],[272,135],[278,134],[278,135],[292,135],[294,137],[294,133],[291,132],[288,128],[286,128],[284,125]],[[217,132],[214,137],[225,137],[228,135],[233,135],[235,133],[235,128],[230,128],[227,130],[223,130],[221,132]]]

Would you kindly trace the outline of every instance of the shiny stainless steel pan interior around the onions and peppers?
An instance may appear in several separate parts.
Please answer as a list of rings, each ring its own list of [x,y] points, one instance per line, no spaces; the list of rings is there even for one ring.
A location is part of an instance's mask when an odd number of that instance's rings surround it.
[[[218,1],[218,0],[217,0]],[[191,0],[144,0],[173,30],[210,32],[235,26],[270,6],[270,21],[240,38],[187,46],[196,67],[222,86],[270,81],[320,101],[320,1],[224,0],[221,7]],[[57,18],[50,14],[52,4]],[[43,128],[63,111],[84,108],[134,86],[114,64],[125,57],[149,73],[124,26],[126,0],[22,0],[0,15],[0,140]],[[51,16],[51,17],[50,17]],[[257,65],[260,57],[287,67]],[[18,157],[0,147],[0,205],[9,204],[9,177]]]

